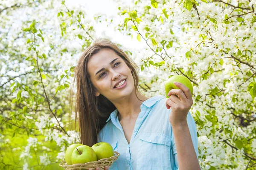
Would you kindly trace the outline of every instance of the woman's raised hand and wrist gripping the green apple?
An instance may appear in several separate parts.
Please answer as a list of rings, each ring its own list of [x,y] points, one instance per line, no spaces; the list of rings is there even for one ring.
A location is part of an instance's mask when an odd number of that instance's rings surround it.
[[[183,125],[186,122],[187,114],[193,104],[192,94],[185,85],[180,82],[174,82],[179,89],[172,89],[167,96],[166,108],[172,108],[172,113],[169,116],[169,121],[172,126]],[[176,94],[177,96],[173,95]]]

